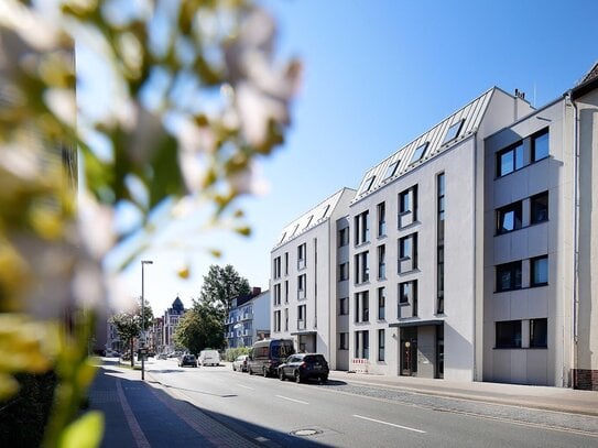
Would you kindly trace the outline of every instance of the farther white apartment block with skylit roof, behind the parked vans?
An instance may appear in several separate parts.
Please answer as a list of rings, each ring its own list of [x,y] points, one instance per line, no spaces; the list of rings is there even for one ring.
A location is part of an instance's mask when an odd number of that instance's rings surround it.
[[[343,188],[291,222],[271,252],[271,337],[293,338],[297,350],[323,353],[333,369],[338,353],[337,221],[354,195]]]

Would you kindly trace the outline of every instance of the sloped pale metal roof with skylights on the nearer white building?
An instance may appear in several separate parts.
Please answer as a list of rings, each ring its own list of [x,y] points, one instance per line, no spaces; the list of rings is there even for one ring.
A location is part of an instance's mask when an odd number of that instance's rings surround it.
[[[481,123],[496,89],[496,87],[492,87],[411,143],[401,147],[390,157],[370,168],[363,176],[351,204],[474,134]],[[455,136],[449,138],[449,132]],[[420,154],[421,156],[417,157]]]

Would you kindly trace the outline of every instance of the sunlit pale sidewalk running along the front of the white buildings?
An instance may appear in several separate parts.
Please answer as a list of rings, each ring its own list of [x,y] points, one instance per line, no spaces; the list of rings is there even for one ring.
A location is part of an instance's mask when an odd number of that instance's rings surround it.
[[[598,392],[488,382],[457,382],[333,371],[333,381],[396,387],[428,395],[598,416]]]

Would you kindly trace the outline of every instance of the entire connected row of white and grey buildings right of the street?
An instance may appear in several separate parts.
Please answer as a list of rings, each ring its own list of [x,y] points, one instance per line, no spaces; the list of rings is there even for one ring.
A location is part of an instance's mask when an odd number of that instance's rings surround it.
[[[597,117],[598,65],[537,110],[494,87],[368,170],[284,229],[273,335],[334,369],[598,390]]]

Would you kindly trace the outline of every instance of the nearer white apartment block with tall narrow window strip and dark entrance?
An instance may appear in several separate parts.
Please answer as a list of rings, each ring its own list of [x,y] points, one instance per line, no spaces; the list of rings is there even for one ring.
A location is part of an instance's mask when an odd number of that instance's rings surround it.
[[[531,110],[492,88],[366,173],[349,214],[351,370],[481,380],[483,139]]]

